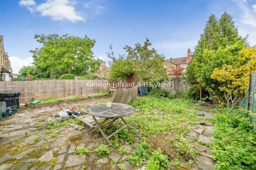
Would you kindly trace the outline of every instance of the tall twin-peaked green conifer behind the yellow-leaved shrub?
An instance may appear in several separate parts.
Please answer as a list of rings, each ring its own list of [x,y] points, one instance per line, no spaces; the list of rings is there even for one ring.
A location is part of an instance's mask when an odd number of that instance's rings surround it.
[[[211,74],[215,68],[234,62],[239,50],[245,46],[245,39],[239,37],[229,14],[225,12],[219,20],[211,15],[195,48],[193,59],[188,65],[187,81],[190,84],[201,84],[210,94],[222,100],[220,82],[212,79]]]

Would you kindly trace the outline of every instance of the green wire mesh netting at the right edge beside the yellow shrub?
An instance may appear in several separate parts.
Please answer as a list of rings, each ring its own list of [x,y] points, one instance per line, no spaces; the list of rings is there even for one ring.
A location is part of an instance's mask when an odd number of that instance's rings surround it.
[[[250,73],[250,83],[246,95],[242,101],[243,108],[256,113],[256,75]],[[254,122],[254,117],[250,117],[251,121]]]

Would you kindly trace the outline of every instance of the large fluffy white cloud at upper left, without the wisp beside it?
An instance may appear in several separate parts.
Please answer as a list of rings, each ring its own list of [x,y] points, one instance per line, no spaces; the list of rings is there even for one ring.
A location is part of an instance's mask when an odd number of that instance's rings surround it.
[[[83,21],[84,18],[75,11],[74,2],[68,0],[48,0],[37,6],[36,10],[42,16],[50,16],[54,21],[68,20],[72,22]]]

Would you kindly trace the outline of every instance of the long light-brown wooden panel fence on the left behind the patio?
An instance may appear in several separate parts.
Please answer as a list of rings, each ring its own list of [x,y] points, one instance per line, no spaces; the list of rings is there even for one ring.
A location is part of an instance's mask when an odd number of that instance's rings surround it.
[[[106,86],[106,88],[105,88]],[[35,80],[2,81],[0,91],[20,91],[20,103],[28,103],[32,98],[62,98],[82,94],[92,95],[109,91],[113,87],[108,80]]]

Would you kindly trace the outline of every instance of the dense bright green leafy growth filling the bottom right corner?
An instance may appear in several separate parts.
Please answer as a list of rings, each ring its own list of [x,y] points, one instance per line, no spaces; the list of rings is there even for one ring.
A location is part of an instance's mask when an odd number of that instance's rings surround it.
[[[247,112],[223,109],[214,120],[215,169],[256,169],[256,133]]]

